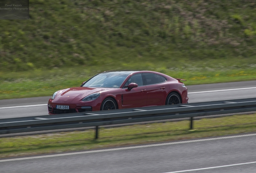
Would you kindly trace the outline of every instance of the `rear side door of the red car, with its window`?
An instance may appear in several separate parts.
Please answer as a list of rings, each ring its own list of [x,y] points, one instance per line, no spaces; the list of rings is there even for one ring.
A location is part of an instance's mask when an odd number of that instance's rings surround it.
[[[166,78],[154,73],[143,74],[147,87],[147,106],[165,105],[169,91]]]

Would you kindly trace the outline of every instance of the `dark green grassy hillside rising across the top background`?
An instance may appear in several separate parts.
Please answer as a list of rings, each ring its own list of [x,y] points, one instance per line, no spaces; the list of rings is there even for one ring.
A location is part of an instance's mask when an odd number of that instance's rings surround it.
[[[30,0],[30,20],[0,20],[0,71],[247,68],[256,64],[255,8],[255,0]]]

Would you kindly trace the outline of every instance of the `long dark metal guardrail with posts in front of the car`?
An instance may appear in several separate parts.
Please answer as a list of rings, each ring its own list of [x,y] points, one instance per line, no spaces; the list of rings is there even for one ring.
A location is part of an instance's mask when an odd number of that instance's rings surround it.
[[[193,117],[251,111],[256,111],[256,98],[10,118],[0,119],[0,134],[95,126],[97,139],[102,125],[190,118],[192,129]]]

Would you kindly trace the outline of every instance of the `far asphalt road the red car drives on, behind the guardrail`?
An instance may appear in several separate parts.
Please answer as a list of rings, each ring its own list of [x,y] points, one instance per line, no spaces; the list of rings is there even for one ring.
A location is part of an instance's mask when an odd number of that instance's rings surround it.
[[[187,87],[189,103],[256,98],[256,80]],[[49,98],[50,96],[0,100],[0,119],[48,115]]]

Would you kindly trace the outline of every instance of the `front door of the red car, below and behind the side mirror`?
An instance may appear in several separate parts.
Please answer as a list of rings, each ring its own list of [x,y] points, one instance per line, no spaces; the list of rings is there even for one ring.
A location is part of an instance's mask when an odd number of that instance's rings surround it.
[[[138,87],[128,90],[126,86],[130,83],[136,83]],[[147,106],[147,87],[143,82],[142,74],[132,75],[124,84],[122,93],[122,108]]]

